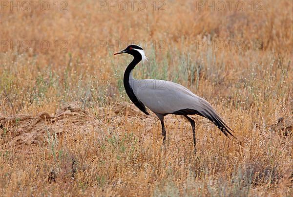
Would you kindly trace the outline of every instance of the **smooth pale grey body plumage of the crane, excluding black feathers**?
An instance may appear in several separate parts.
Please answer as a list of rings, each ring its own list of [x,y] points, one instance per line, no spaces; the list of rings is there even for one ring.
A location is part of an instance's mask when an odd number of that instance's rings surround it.
[[[130,86],[136,97],[156,114],[173,113],[180,109],[202,111],[209,105],[205,99],[193,94],[188,88],[170,81],[132,78]]]

